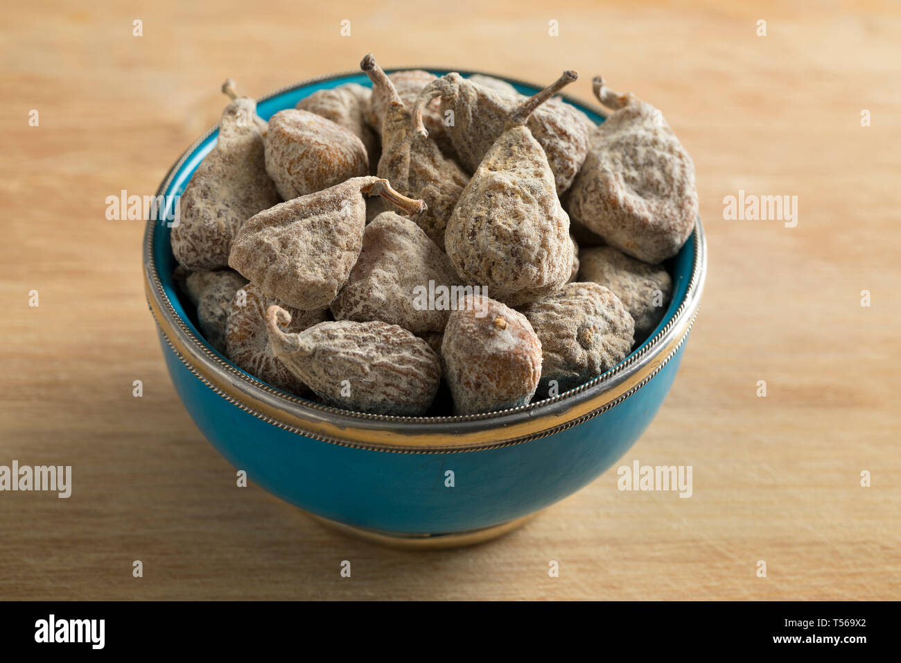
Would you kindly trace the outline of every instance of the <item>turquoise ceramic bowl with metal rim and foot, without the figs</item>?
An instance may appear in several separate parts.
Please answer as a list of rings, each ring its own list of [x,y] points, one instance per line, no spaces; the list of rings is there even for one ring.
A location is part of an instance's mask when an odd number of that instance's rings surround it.
[[[369,85],[359,72],[316,78],[264,97],[259,115],[268,119],[315,90],[348,82]],[[539,89],[510,82],[524,94]],[[564,98],[603,119],[599,109]],[[216,127],[182,155],[158,196],[180,194],[215,141]],[[383,542],[433,546],[511,529],[596,479],[632,447],[676,376],[705,263],[698,220],[669,261],[673,297],[660,326],[592,382],[514,410],[399,418],[306,401],[229,363],[206,344],[184,306],[168,225],[150,220],[144,241],[147,298],[169,374],[213,446],[250,480],[320,519]]]

